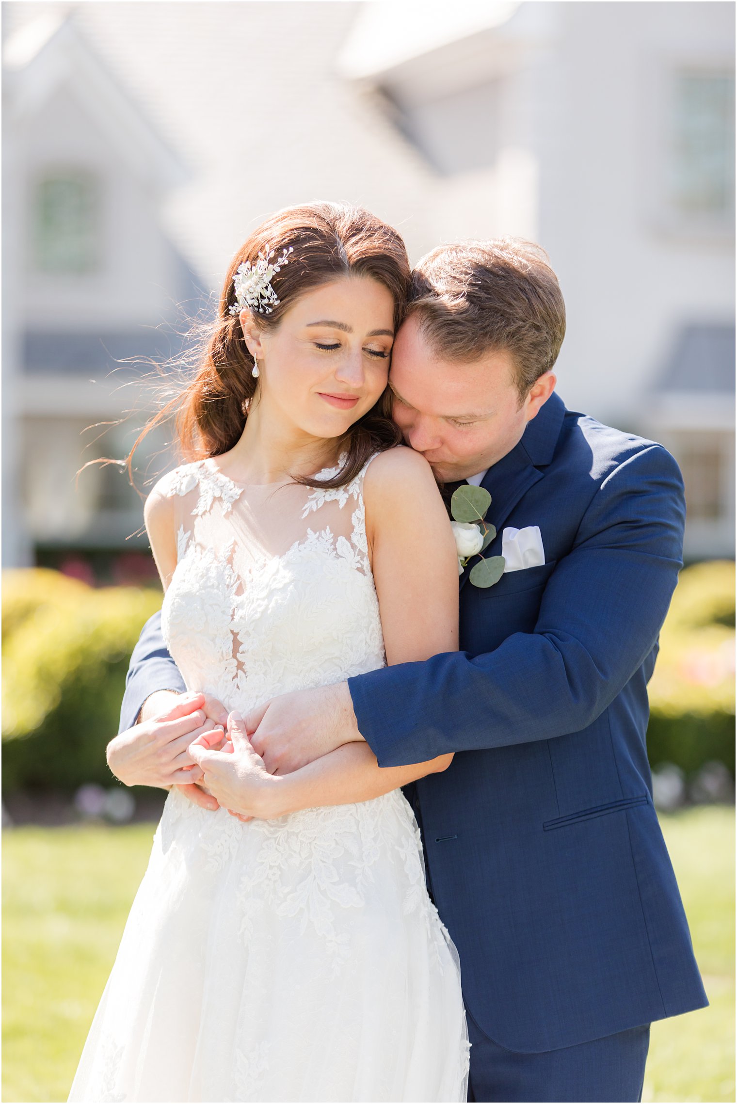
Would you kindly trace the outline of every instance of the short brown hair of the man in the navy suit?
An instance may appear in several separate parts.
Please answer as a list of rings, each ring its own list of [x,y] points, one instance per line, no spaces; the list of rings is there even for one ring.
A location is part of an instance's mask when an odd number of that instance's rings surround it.
[[[553,368],[566,332],[563,294],[547,254],[514,237],[427,253],[413,273],[407,315],[446,360],[476,361],[508,350],[521,400]]]

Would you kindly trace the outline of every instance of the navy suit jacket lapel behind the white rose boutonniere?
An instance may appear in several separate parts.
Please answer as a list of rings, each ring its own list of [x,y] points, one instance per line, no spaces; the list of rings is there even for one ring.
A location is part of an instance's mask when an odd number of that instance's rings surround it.
[[[522,496],[543,478],[544,471],[540,468],[544,468],[553,458],[565,412],[563,401],[555,393],[551,395],[537,417],[528,423],[522,440],[489,468],[483,477],[481,486],[491,495],[485,520],[496,529],[496,537],[482,553],[484,559],[501,554],[504,522]],[[460,577],[461,588],[478,562],[476,556],[471,558]]]

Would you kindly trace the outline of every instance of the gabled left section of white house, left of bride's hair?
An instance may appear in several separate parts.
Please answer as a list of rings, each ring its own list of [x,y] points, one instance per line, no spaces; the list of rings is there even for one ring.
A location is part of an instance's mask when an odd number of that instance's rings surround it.
[[[159,213],[186,174],[63,17],[7,40],[4,94],[3,562],[126,548],[138,495],[117,467],[76,473],[199,295]],[[129,439],[114,426],[102,454]]]

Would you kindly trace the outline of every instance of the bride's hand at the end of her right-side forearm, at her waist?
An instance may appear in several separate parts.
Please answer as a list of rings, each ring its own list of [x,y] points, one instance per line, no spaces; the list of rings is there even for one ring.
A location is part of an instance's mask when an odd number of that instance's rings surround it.
[[[284,807],[284,779],[268,773],[238,713],[231,713],[227,719],[229,741],[215,751],[212,744],[223,735],[217,730],[203,733],[188,749],[203,772],[203,786],[223,808],[241,818],[270,820],[289,811]]]

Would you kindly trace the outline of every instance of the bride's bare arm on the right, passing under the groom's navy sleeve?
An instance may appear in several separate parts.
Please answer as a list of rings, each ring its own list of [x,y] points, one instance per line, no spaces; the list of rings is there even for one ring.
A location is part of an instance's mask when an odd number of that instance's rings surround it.
[[[458,556],[430,466],[409,448],[382,453],[364,479],[366,535],[389,665],[458,648]],[[320,805],[365,802],[427,774],[452,755],[380,767],[365,743],[338,747],[292,774],[274,778],[256,816]],[[258,800],[255,804],[259,804]],[[239,806],[238,806],[239,807]]]

